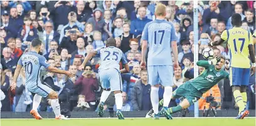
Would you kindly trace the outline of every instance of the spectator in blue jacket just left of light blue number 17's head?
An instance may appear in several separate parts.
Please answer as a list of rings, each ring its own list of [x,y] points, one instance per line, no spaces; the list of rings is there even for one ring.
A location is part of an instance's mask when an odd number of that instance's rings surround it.
[[[141,6],[138,8],[139,17],[131,22],[131,34],[134,36],[139,36],[142,34],[142,31],[147,24],[147,22],[152,21],[146,17],[146,7]]]

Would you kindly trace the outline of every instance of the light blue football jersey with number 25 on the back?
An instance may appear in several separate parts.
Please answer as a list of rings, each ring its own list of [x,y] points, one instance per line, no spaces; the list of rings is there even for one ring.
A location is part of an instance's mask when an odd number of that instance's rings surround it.
[[[100,57],[99,71],[110,68],[120,70],[120,61],[122,61],[122,64],[127,64],[124,53],[114,46],[98,49],[97,56]]]

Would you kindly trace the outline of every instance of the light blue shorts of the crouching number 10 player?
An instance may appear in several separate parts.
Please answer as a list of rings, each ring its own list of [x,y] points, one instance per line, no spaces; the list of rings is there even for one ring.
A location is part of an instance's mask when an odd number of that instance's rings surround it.
[[[44,84],[28,86],[28,90],[32,93],[40,95],[41,97],[47,97],[50,92],[53,91],[53,89]]]

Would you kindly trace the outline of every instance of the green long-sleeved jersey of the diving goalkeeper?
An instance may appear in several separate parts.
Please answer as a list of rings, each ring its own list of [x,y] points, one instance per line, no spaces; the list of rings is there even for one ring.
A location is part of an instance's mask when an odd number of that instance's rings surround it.
[[[201,72],[201,74],[195,79],[189,80],[189,82],[202,93],[210,90],[211,87],[218,84],[221,79],[228,79],[228,72],[223,69],[216,70],[215,65],[209,65],[208,61],[198,61],[196,64],[198,66],[205,67],[205,70],[203,70],[203,72]]]

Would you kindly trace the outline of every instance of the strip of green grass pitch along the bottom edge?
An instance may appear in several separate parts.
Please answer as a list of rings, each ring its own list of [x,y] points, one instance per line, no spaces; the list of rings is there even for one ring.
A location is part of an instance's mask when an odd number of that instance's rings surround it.
[[[153,120],[153,119],[71,119],[71,120],[55,120],[55,119],[44,119],[44,120],[31,120],[31,119],[1,119],[1,126],[165,126],[165,125],[179,125],[179,126],[254,126],[255,118],[235,120],[227,118],[199,118],[199,119],[186,119],[179,118],[173,120]]]

